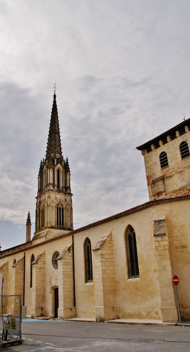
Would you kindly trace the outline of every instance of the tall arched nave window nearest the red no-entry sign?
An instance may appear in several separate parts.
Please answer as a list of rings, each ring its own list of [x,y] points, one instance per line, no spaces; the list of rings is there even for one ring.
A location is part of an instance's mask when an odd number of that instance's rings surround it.
[[[129,279],[139,277],[136,234],[131,225],[127,228],[125,241]]]

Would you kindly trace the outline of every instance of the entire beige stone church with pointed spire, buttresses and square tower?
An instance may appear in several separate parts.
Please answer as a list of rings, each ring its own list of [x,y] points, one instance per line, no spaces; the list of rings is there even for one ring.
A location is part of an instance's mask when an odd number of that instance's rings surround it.
[[[0,252],[3,294],[22,294],[27,316],[178,321],[190,318],[190,119],[137,147],[150,200],[73,230],[68,159],[54,94],[40,163],[35,233]],[[3,307],[4,313],[14,307]]]

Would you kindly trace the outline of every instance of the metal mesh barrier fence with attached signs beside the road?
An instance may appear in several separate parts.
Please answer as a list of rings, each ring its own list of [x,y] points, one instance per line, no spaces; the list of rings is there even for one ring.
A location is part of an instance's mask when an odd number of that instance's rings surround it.
[[[0,335],[3,340],[21,340],[22,295],[0,296]]]

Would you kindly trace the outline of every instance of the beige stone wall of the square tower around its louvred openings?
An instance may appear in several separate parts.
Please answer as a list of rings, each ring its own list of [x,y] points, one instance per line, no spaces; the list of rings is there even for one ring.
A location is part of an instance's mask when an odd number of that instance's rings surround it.
[[[150,200],[190,188],[190,157],[182,160],[179,150],[183,141],[190,149],[189,131],[173,140],[168,139],[168,143],[149,153],[146,150],[142,152]],[[161,169],[159,155],[163,151],[167,153],[169,166]]]

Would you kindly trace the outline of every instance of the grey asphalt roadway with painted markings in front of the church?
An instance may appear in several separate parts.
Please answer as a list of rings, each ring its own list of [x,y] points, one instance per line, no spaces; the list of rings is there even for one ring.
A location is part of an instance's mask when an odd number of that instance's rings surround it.
[[[22,321],[23,344],[15,352],[190,351],[190,327],[70,321]]]

